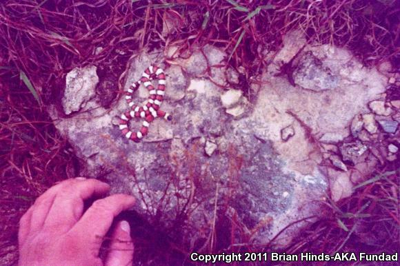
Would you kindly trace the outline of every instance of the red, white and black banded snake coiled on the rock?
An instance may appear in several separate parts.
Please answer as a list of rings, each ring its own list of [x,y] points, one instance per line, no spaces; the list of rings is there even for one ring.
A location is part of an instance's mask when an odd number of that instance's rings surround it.
[[[154,88],[150,82],[153,79],[159,80],[157,89]],[[139,107],[139,105],[135,105],[133,103],[132,94],[139,88],[141,83],[146,86],[150,95],[146,102]],[[141,75],[141,79],[133,83],[132,88],[128,88],[125,99],[128,102],[130,110],[124,112],[121,115],[121,119],[119,119],[119,129],[121,130],[123,136],[126,136],[126,139],[130,139],[138,143],[141,139],[143,139],[143,136],[148,134],[148,127],[156,117],[163,117],[168,121],[172,120],[172,116],[170,116],[168,112],[164,112],[160,109],[161,103],[163,103],[165,90],[166,74],[156,65],[150,65],[150,67],[146,68]],[[141,129],[137,132],[132,132],[128,127],[128,122],[132,118],[144,119]]]

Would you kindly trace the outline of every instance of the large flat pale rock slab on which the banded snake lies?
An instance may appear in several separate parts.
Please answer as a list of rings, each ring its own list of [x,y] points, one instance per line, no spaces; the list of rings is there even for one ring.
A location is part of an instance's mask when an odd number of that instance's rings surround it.
[[[299,90],[286,76],[271,76],[263,69],[257,82],[250,80],[250,88],[259,88],[254,90],[257,94],[251,99],[251,109],[241,96],[228,110],[221,106],[223,90],[202,76],[207,68],[203,63],[209,63],[213,81],[227,83],[220,67],[226,54],[219,48],[206,45],[204,61],[195,49],[177,57],[169,54],[170,67],[161,63],[157,51],[139,54],[130,61],[125,90],[148,65],[160,65],[168,75],[161,110],[173,117],[172,121],[154,119],[141,143],[121,136],[118,125],[112,122],[128,109],[122,97],[109,109],[89,101],[90,110],[78,110],[72,117],[58,115],[54,107],[49,112],[82,162],[79,174],[101,176],[110,183],[112,193],[133,194],[139,214],[159,219],[166,232],[176,229],[180,239],[188,242],[185,244],[203,245],[204,236],[212,234],[209,221],[217,201],[228,210],[221,213],[217,209],[221,220],[234,217],[255,232],[253,243],[264,245],[290,223],[319,212],[314,203],[325,197],[331,175],[323,169],[326,158],[318,140],[333,134],[335,140],[345,139],[354,116],[365,113],[368,103],[385,90],[386,77],[373,68],[362,68],[346,50],[330,45],[306,50],[318,60],[305,58],[313,64],[307,67],[304,57],[299,57],[298,73],[304,70],[306,83],[326,90]],[[176,77],[181,75],[180,66],[187,81]],[[201,79],[195,77],[197,74]],[[313,75],[318,82],[328,80],[329,84],[312,84]],[[134,101],[140,104],[147,97],[148,92],[135,93]],[[142,122],[132,119],[129,126],[139,129]],[[282,135],[281,130],[288,125],[295,134],[288,130]],[[362,132],[366,131],[359,135]],[[291,137],[282,141],[282,136]],[[355,149],[354,161],[369,154],[362,150],[362,145]],[[347,153],[353,155],[350,148]],[[331,183],[334,198],[351,194],[351,170],[328,168],[334,171],[332,180],[338,181]],[[363,173],[371,169],[374,165],[368,165]],[[339,190],[343,184],[346,186]],[[182,219],[182,214],[190,215]],[[284,232],[279,239],[284,242],[290,236]]]

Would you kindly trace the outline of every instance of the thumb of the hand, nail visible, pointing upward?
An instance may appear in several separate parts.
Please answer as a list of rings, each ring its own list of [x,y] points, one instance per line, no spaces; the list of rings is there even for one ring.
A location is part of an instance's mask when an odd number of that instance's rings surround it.
[[[106,258],[106,266],[132,265],[133,243],[130,238],[130,226],[127,221],[117,223],[112,234],[110,252]]]

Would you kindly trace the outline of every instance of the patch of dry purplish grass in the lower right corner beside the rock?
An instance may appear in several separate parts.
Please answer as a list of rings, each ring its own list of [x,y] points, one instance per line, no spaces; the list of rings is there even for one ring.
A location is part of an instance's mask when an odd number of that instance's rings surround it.
[[[367,252],[394,254],[400,247],[400,173],[386,171],[354,187],[354,194],[330,201],[321,218],[303,229],[288,254]],[[352,265],[365,265],[354,262]],[[376,264],[378,265],[378,263]],[[390,265],[390,263],[383,263]],[[393,263],[392,265],[397,265]]]

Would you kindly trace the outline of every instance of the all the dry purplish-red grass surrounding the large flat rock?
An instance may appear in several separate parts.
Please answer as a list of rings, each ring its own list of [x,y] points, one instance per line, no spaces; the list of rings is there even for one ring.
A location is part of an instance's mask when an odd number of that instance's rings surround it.
[[[16,260],[17,221],[34,198],[55,181],[79,173],[78,159],[46,114],[48,103],[59,103],[64,78],[72,68],[98,65],[100,78],[108,75],[117,84],[135,50],[179,45],[180,50],[190,51],[194,45],[211,43],[230,54],[228,64],[243,66],[248,79],[269,63],[261,50],[276,50],[286,32],[299,28],[310,42],[345,46],[366,64],[389,60],[399,69],[399,6],[396,0],[2,1],[1,264]],[[170,34],[163,34],[166,19],[176,21],[177,28]],[[103,49],[96,54],[98,47]],[[104,106],[117,95],[117,85],[114,89]],[[310,227],[312,233],[306,239],[314,241],[294,243],[288,250],[324,247],[332,251],[339,248],[337,243],[351,249],[370,239],[367,225],[388,236],[374,239],[377,247],[399,247],[398,238],[387,234],[399,227],[398,205],[394,207],[399,200],[398,178],[394,174],[379,179],[338,206],[332,205],[333,214]],[[370,216],[359,216],[366,212]],[[230,228],[240,231],[237,221],[230,223]],[[225,233],[236,234],[215,232],[210,243],[214,250]],[[159,237],[161,233],[149,234]],[[226,243],[230,241],[227,236]],[[246,248],[250,247],[240,250]]]

